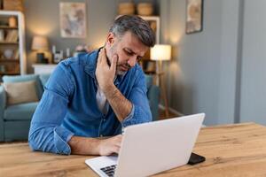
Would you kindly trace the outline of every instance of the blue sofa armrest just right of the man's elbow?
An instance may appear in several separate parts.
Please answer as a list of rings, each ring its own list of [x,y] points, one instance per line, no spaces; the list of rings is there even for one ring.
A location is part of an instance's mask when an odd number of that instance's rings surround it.
[[[160,88],[152,85],[147,92],[153,120],[157,120],[159,117],[159,103],[160,103]]]

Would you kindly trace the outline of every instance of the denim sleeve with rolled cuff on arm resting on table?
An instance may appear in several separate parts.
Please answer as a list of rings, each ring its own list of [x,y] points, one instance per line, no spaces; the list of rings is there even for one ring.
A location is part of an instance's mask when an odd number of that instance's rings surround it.
[[[32,150],[70,154],[68,141],[74,135],[61,126],[66,116],[67,104],[74,92],[74,78],[69,66],[60,63],[44,87],[28,135]]]

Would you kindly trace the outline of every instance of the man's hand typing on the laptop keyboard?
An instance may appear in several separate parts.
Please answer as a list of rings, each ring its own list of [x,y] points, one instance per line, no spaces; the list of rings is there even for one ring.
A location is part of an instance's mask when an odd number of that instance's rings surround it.
[[[121,147],[122,135],[116,135],[112,138],[100,140],[98,153],[100,156],[109,156],[113,153],[119,153]]]

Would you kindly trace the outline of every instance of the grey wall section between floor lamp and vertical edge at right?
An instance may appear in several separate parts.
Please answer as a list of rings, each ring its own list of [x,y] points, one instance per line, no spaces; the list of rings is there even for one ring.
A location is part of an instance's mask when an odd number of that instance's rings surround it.
[[[170,106],[178,112],[206,112],[205,124],[234,121],[239,0],[205,0],[203,31],[185,34],[185,1],[160,2],[162,42],[173,45],[168,71]],[[175,96],[175,97],[173,97]]]

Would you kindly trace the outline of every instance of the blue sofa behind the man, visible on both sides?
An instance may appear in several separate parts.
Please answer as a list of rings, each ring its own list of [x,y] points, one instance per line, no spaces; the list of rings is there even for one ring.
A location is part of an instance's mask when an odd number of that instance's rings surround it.
[[[35,81],[39,99],[43,95],[43,86],[50,74],[27,74],[19,76],[4,76],[4,82]],[[153,85],[153,77],[146,75],[147,96],[153,114],[153,120],[158,119],[158,104],[160,89]],[[38,102],[27,104],[6,105],[4,87],[0,86],[0,142],[27,140],[30,120]]]

